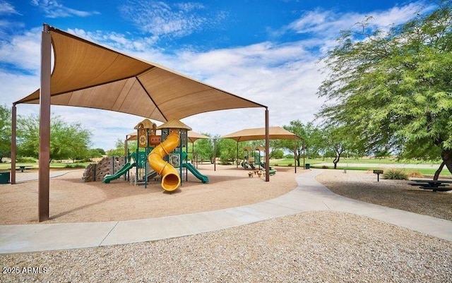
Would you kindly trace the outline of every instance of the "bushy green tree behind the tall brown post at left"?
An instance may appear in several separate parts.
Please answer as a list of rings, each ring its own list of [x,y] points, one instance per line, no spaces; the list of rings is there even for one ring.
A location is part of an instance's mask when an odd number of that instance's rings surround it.
[[[39,157],[40,123],[36,115],[18,117],[18,154]],[[85,158],[90,145],[90,132],[81,124],[67,124],[60,116],[52,116],[50,123],[50,158]]]

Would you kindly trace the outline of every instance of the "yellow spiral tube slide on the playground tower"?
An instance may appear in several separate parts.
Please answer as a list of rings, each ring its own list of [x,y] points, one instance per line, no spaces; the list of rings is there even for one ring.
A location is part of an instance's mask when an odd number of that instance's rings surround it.
[[[163,157],[179,145],[179,134],[170,133],[168,138],[157,145],[148,155],[148,162],[157,173],[162,176],[162,188],[165,191],[174,191],[179,188],[181,178],[179,172],[171,164],[163,160]]]

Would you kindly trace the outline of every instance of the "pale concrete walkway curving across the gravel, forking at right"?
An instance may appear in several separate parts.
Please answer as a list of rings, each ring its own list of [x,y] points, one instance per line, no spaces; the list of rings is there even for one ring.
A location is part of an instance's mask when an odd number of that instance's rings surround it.
[[[364,215],[452,241],[452,221],[418,215],[336,195],[314,177],[297,176],[295,190],[262,203],[224,210],[115,222],[1,225],[0,253],[25,253],[155,241],[294,215],[331,210]]]

